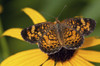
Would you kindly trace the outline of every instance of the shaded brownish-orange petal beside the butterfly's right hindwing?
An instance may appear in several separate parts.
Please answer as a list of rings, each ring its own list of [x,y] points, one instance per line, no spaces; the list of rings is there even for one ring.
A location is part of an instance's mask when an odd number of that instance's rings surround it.
[[[96,37],[89,37],[89,38],[85,38],[85,41],[82,47],[80,48],[87,48],[87,47],[92,47],[95,45],[100,45],[100,39]]]

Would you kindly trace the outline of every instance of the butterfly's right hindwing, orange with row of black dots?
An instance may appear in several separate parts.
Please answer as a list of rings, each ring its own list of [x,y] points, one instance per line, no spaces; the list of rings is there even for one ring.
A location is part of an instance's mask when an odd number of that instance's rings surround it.
[[[63,40],[66,49],[77,49],[83,44],[84,38],[75,30],[63,26]]]

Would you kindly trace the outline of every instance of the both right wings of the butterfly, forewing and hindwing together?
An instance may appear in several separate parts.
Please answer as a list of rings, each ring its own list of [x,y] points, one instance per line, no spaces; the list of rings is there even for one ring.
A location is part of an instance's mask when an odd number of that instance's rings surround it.
[[[96,22],[90,18],[69,18],[61,22],[66,49],[77,49],[84,41],[84,36],[93,32]]]

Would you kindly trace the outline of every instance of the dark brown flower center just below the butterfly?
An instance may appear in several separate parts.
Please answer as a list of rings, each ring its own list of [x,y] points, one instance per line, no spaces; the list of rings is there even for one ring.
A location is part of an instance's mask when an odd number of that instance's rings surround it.
[[[53,59],[54,61],[58,62],[64,62],[66,60],[69,60],[72,58],[76,50],[68,50],[65,48],[62,48],[59,52],[55,54],[48,55],[49,59]]]

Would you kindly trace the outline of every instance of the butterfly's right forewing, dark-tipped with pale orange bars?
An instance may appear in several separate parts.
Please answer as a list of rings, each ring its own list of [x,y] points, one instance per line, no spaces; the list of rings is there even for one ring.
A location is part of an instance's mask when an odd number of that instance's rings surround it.
[[[69,18],[62,21],[62,23],[81,35],[89,35],[96,26],[96,22],[90,18]]]

